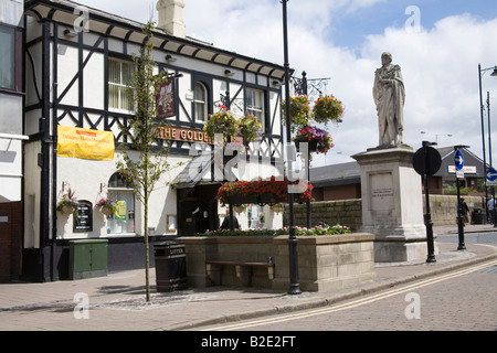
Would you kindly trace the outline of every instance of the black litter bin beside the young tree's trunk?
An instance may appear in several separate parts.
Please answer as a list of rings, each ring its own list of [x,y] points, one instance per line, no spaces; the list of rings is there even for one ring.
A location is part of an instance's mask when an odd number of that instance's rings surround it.
[[[184,244],[165,242],[154,246],[157,291],[187,289]]]

